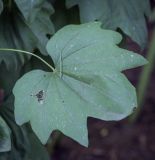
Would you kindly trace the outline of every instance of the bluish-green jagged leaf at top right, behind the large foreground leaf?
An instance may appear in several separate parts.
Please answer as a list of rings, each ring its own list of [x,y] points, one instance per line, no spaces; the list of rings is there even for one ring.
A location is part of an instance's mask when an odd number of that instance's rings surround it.
[[[142,48],[146,46],[144,15],[150,13],[149,0],[67,0],[66,5],[68,8],[79,6],[82,23],[99,20],[104,28],[119,27]]]

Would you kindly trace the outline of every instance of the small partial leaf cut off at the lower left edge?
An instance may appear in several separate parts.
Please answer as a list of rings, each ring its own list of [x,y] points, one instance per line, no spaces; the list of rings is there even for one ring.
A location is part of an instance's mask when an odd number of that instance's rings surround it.
[[[10,130],[6,122],[0,116],[0,152],[11,150]]]

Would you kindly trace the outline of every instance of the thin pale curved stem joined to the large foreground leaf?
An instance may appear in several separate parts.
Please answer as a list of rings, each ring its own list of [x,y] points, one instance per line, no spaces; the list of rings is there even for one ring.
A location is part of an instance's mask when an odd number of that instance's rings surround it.
[[[23,51],[23,50],[19,50],[19,49],[12,49],[12,48],[0,48],[0,51],[12,51],[12,52],[18,52],[18,53],[24,53],[24,54],[29,54],[32,55],[36,58],[38,58],[39,60],[41,60],[44,64],[46,64],[53,72],[55,72],[55,69],[49,64],[47,63],[45,60],[43,60],[41,57],[37,56],[34,53],[28,52],[28,51]]]

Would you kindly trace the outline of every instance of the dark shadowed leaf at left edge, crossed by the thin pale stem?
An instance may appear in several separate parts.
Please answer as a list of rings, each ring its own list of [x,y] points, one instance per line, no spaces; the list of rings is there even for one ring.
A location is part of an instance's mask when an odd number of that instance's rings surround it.
[[[36,39],[17,12],[11,15],[7,12],[1,14],[0,24],[0,48],[18,48],[27,51],[36,48]],[[0,63],[4,61],[7,69],[18,69],[29,58],[29,55],[0,51]]]

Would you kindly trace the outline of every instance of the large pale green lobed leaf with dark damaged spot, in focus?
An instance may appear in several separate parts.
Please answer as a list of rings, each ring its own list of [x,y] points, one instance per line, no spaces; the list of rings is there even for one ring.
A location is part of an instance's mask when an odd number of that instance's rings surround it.
[[[100,25],[59,30],[47,44],[56,71],[33,70],[15,84],[16,122],[30,121],[42,143],[58,129],[87,146],[87,117],[120,120],[137,106],[135,88],[120,72],[146,60],[119,48],[121,35]]]

